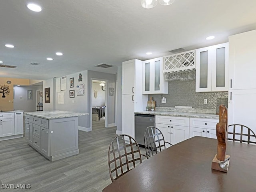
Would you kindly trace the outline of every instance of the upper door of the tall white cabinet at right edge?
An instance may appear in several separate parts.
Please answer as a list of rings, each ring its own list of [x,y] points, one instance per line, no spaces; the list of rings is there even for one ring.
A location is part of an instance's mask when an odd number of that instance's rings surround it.
[[[229,36],[229,89],[256,89],[256,30]]]

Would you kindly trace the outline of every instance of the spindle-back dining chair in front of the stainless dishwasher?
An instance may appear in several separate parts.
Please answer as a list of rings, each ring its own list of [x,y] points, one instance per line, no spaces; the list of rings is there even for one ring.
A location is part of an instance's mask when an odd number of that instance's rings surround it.
[[[157,152],[166,149],[166,143],[172,146],[169,142],[164,141],[162,132],[153,126],[147,127],[144,134],[144,143],[146,155],[148,157],[154,156]]]

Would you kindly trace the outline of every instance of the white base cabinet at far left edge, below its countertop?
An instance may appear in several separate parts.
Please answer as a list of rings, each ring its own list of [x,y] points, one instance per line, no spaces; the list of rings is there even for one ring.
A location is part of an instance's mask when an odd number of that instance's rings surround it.
[[[23,111],[0,112],[0,141],[23,137]]]

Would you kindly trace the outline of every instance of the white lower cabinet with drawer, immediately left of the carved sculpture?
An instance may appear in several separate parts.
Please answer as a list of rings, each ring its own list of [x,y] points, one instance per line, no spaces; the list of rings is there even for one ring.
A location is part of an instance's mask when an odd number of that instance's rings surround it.
[[[216,124],[218,119],[190,118],[189,138],[195,136],[217,139]]]

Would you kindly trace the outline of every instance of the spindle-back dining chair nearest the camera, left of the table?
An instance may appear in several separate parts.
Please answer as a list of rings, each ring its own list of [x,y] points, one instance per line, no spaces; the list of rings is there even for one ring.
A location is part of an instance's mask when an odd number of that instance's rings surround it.
[[[111,181],[132,170],[142,162],[138,143],[130,135],[117,135],[108,148],[108,168]]]

